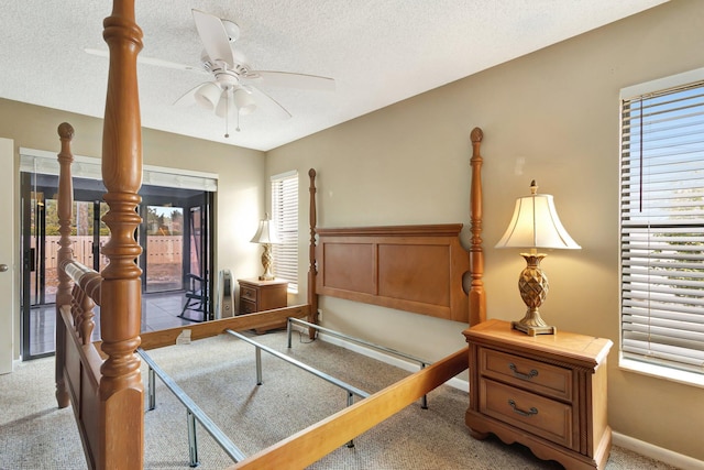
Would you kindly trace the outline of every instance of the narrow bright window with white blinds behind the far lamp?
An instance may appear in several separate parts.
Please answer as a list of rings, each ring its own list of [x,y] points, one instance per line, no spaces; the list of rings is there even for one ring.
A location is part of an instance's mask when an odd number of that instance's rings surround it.
[[[273,245],[274,275],[298,292],[298,172],[272,176],[272,222],[282,243]]]

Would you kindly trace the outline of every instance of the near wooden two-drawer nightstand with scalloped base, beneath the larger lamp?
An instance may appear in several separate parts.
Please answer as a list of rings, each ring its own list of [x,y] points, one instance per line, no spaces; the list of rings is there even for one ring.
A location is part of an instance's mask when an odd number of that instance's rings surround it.
[[[470,345],[470,434],[520,442],[568,469],[603,469],[612,446],[606,356],[612,341],[559,331],[527,336],[488,320]]]

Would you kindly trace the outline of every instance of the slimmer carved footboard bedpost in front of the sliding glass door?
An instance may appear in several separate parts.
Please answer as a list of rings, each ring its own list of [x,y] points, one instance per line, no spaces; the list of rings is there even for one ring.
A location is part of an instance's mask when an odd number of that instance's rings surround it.
[[[70,141],[74,139],[74,128],[63,122],[58,125],[58,136],[62,141],[62,150],[58,153],[58,201],[56,205],[58,215],[58,241],[57,266],[62,261],[73,260],[74,250],[70,244],[70,221],[73,219],[74,186],[70,175],[70,164],[74,163],[74,155],[70,152]],[[63,328],[62,305],[70,304],[70,289],[73,283],[64,270],[58,271],[58,288],[56,291],[56,402],[59,408],[65,408],[69,404],[68,391],[64,381],[64,358],[66,329]]]

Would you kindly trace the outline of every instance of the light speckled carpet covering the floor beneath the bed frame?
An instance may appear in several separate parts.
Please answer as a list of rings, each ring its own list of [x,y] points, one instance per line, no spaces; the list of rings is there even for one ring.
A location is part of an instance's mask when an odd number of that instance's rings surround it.
[[[408,372],[342,348],[283,332],[255,340],[373,393]],[[262,353],[264,384],[256,385],[254,348],[230,336],[147,351],[245,453],[252,455],[346,405],[346,392],[277,358]],[[146,368],[142,376],[146,390]],[[156,409],[145,414],[146,469],[188,468],[186,409],[157,379]],[[84,469],[82,447],[70,408],[54,400],[54,360],[20,363],[0,375],[0,469]],[[522,446],[473,439],[464,425],[466,393],[443,385],[419,404],[340,447],[311,469],[452,470],[560,469]],[[146,408],[146,405],[145,405]],[[201,469],[222,469],[232,460],[199,427]],[[671,469],[614,447],[608,470]]]

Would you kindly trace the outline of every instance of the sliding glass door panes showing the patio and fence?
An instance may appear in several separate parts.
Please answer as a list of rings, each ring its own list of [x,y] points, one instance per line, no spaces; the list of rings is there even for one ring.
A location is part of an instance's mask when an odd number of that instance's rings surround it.
[[[32,359],[53,354],[55,302],[58,287],[56,261],[58,218],[56,193],[58,176],[21,173],[22,203],[22,357]],[[100,272],[108,262],[101,254],[109,240],[102,216],[108,210],[102,201],[105,187],[97,179],[74,178],[74,207],[70,237],[74,256]],[[140,190],[139,212],[142,225],[135,236],[142,245],[138,262],[142,267],[143,330],[182,325],[178,318],[190,288],[191,275],[202,278],[207,299],[200,315],[212,318],[210,210],[213,193],[145,185]],[[148,296],[163,296],[151,323]],[[170,324],[168,319],[173,319]]]

